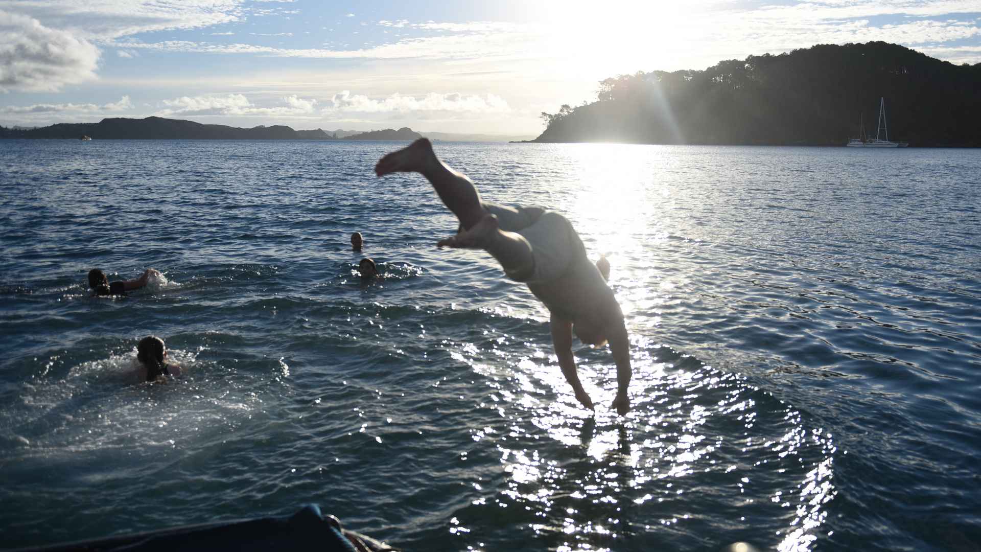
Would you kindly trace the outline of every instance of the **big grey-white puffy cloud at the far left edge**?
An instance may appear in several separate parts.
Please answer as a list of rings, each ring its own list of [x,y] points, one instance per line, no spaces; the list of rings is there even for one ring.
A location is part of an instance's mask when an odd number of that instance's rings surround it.
[[[0,11],[0,91],[55,91],[95,79],[99,50],[70,32]]]

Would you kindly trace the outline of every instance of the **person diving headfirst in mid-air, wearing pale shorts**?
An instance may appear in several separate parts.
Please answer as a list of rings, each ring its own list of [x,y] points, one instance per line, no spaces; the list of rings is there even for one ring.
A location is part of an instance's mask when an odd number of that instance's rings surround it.
[[[559,367],[576,399],[588,409],[594,408],[593,400],[579,381],[572,336],[594,347],[609,343],[617,367],[611,408],[621,415],[630,412],[630,339],[620,304],[606,284],[609,261],[601,257],[599,266],[590,262],[572,225],[554,211],[482,200],[470,179],[439,160],[429,139],[417,139],[375,165],[379,177],[396,172],[426,177],[460,221],[456,236],[440,241],[440,247],[487,250],[509,278],[528,284],[548,308]]]

